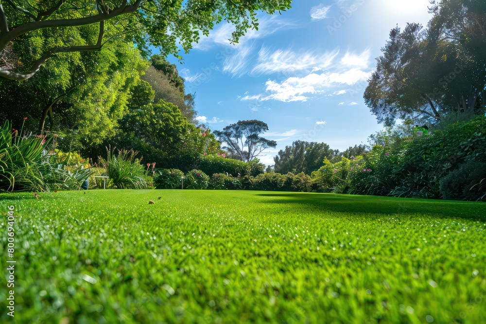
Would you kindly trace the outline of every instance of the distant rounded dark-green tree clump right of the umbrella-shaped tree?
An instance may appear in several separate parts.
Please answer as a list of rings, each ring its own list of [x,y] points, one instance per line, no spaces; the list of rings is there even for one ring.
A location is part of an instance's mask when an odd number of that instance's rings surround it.
[[[278,152],[274,157],[274,168],[275,172],[282,174],[304,172],[310,175],[312,171],[317,171],[322,166],[324,158],[334,161],[336,156],[336,151],[331,150],[326,143],[297,140],[292,143],[292,146],[286,146],[284,150]]]

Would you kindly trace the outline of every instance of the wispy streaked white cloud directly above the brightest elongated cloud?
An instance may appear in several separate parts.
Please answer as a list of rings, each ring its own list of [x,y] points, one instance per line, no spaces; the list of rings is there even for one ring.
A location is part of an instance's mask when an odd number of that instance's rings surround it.
[[[330,67],[339,50],[322,54],[312,52],[295,52],[290,49],[271,52],[262,47],[258,53],[258,64],[252,69],[252,73],[274,73],[279,71],[323,70]]]

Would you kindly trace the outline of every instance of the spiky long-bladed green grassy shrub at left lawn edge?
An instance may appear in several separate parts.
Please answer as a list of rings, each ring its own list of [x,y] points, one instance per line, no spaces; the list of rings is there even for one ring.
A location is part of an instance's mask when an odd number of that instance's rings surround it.
[[[138,152],[133,150],[119,150],[115,154],[113,150],[106,148],[106,161],[102,160],[109,176],[110,187],[119,189],[146,189],[147,183],[143,179],[145,168],[136,158]],[[100,159],[101,160],[101,159]]]

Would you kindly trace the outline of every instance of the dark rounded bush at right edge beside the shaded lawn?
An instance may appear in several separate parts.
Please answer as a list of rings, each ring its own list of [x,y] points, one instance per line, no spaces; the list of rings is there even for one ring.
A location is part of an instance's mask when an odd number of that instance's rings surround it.
[[[440,192],[447,200],[478,200],[486,194],[481,181],[486,178],[486,163],[468,161],[440,180]]]

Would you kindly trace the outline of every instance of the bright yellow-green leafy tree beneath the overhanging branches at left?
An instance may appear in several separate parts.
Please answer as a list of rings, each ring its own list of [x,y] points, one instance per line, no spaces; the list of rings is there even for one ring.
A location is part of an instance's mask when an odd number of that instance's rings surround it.
[[[148,67],[132,44],[113,41],[99,52],[70,53],[66,61],[50,61],[29,80],[0,78],[1,119],[42,134],[55,132],[69,146],[101,143],[113,136],[126,114],[130,89]]]

